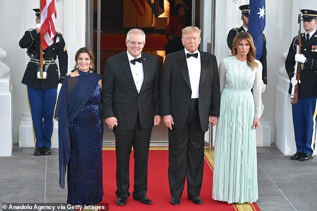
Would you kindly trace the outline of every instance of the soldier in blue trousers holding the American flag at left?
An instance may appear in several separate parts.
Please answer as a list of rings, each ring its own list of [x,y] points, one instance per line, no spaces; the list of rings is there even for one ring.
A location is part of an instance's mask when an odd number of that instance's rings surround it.
[[[40,70],[40,13],[35,11],[35,29],[25,31],[19,41],[26,48],[30,60],[26,66],[22,83],[27,86],[27,97],[32,117],[35,143],[34,155],[50,155],[53,132],[53,116],[57,91],[67,74],[67,51],[62,35],[56,31],[54,42],[43,50],[43,67]],[[58,56],[60,76],[55,59]]]

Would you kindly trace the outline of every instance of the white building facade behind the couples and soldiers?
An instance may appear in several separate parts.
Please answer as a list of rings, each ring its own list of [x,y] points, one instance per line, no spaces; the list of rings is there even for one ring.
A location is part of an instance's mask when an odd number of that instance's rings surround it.
[[[287,93],[289,81],[284,60],[290,42],[298,32],[299,1],[300,8],[317,10],[317,4],[312,4],[311,0],[266,0],[265,9],[267,86],[262,94],[263,129],[257,132],[257,135],[265,139],[266,144],[258,144],[258,146],[267,146],[268,140],[268,144],[274,143],[285,155],[295,152],[291,105]],[[214,36],[214,54],[218,63],[230,53],[226,44],[226,35],[229,29],[242,25],[238,7],[247,3],[249,0],[201,0],[200,2],[203,6],[200,18],[203,39],[200,47],[207,51],[207,43],[212,43],[211,37]],[[88,0],[55,0],[57,10],[55,27],[63,34],[67,45],[69,71],[74,65],[76,50],[86,45],[88,4]],[[38,7],[39,0],[1,0],[0,5],[0,54],[1,49],[6,53],[3,58],[0,55],[0,71],[2,71],[1,61],[10,69],[4,76],[0,72],[0,149],[5,147],[4,152],[0,150],[0,156],[9,156],[12,144],[27,146],[27,143],[24,143],[29,141],[27,137],[31,137],[31,142],[33,141],[32,131],[27,129],[31,127],[31,121],[26,86],[21,84],[29,58],[25,54],[25,49],[19,47],[18,42],[25,30],[35,27],[32,8]],[[212,9],[215,10],[214,19],[210,12]],[[211,25],[214,28],[213,34],[210,30]],[[2,81],[4,82],[1,83]],[[7,102],[1,100],[2,96],[5,96]],[[57,147],[57,124],[55,125],[52,147]]]

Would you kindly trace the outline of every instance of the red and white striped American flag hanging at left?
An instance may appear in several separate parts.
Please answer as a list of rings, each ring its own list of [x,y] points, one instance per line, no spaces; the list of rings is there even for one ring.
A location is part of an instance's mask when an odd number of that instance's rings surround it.
[[[55,0],[41,0],[40,13],[40,45],[46,49],[54,43],[56,8]]]

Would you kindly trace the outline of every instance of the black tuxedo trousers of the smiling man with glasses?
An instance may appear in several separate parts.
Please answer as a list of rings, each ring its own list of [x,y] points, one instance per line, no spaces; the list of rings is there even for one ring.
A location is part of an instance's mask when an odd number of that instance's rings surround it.
[[[120,123],[119,123],[120,124]],[[134,185],[133,197],[146,195],[147,160],[152,128],[141,129],[137,118],[133,130],[113,129],[116,156],[116,197],[130,196],[129,193],[129,159],[131,147],[134,151]]]

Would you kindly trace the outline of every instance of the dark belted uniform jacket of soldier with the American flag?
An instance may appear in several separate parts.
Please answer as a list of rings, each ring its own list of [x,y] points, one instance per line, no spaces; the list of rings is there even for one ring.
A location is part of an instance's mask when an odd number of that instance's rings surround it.
[[[25,31],[23,37],[19,41],[21,48],[26,48],[27,55],[32,59],[39,59],[40,37],[35,29]],[[56,32],[54,43],[43,50],[43,60],[52,61],[58,56],[60,76],[58,77],[58,68],[56,63],[44,64],[43,70],[47,68],[47,79],[36,79],[36,72],[39,68],[39,63],[29,61],[22,83],[37,89],[52,89],[56,88],[58,83],[62,83],[67,75],[67,50],[64,39],[59,32]]]

